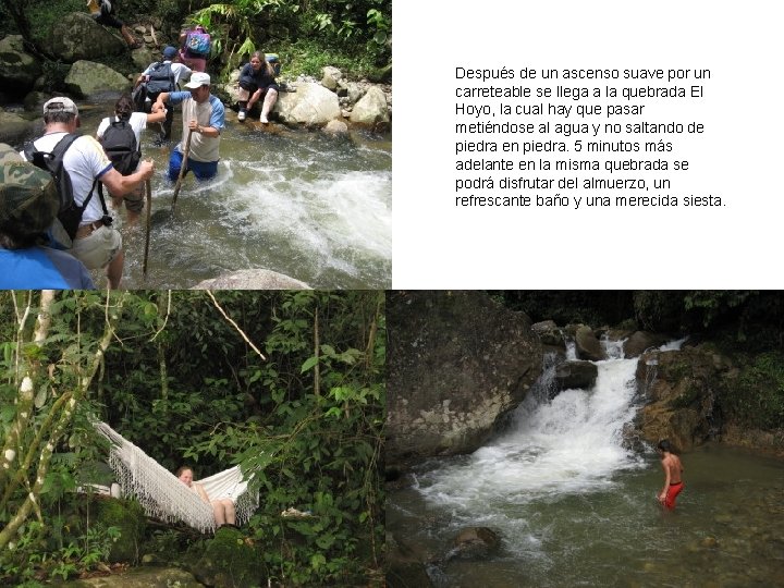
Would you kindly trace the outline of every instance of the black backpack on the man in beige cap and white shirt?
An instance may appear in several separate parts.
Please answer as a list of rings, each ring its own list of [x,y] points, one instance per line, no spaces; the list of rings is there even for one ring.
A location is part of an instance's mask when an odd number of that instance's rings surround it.
[[[73,197],[73,185],[71,184],[71,176],[63,166],[63,157],[65,151],[71,144],[76,140],[81,135],[69,133],[54,146],[51,152],[39,151],[36,149],[34,143],[28,143],[25,146],[24,154],[27,161],[32,161],[38,168],[48,171],[54,179],[54,183],[60,195],[60,211],[58,212],[58,219],[62,223],[65,232],[73,240],[76,238],[76,231],[82,222],[82,215],[87,208],[87,205],[93,197],[96,184],[98,180],[93,183],[87,198],[82,203],[82,206],[76,204]],[[101,196],[101,206],[103,207],[103,213],[108,215],[106,203]]]

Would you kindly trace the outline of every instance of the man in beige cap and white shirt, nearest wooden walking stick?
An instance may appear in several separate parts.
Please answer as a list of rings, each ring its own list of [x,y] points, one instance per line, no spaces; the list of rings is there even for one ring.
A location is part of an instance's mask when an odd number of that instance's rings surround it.
[[[81,126],[78,109],[70,98],[52,98],[44,105],[44,136],[33,142],[36,150],[51,152],[66,135]],[[71,254],[88,269],[106,268],[109,287],[120,287],[124,254],[122,236],[114,229],[107,213],[103,199],[99,197],[96,180],[112,194],[126,194],[152,175],[152,161],[142,161],[135,173],[122,175],[114,169],[94,137],[81,135],[63,156],[63,168],[73,186],[74,201],[87,206],[82,215]]]

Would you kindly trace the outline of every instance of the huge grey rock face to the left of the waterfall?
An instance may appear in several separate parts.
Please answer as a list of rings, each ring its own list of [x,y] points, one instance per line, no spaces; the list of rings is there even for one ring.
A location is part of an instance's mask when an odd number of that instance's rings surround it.
[[[479,292],[390,293],[387,463],[471,452],[541,371],[530,319]]]

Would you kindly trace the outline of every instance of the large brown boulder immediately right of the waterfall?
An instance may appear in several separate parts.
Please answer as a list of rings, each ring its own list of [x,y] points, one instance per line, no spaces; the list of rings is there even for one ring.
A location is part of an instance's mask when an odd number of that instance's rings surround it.
[[[731,370],[727,358],[699,347],[642,354],[636,375],[647,403],[637,416],[642,439],[653,444],[669,439],[689,451],[719,437],[716,400]]]

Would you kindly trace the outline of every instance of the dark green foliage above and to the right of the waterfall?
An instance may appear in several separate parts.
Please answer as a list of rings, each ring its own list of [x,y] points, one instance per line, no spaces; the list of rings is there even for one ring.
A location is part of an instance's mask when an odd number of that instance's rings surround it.
[[[784,428],[784,296],[775,291],[491,291],[534,321],[618,326],[713,345],[740,367],[737,385],[719,393],[728,421]],[[633,317],[633,318],[632,318]],[[685,394],[678,406],[691,404]]]

